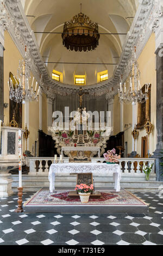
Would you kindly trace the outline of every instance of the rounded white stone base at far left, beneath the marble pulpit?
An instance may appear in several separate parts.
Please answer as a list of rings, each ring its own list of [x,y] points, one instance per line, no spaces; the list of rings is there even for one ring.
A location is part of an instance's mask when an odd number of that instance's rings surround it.
[[[11,196],[12,191],[12,179],[11,174],[7,172],[0,173],[0,197]]]

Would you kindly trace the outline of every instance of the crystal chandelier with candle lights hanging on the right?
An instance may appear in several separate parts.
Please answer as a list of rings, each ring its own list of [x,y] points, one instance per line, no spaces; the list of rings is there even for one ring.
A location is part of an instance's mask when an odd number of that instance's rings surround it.
[[[132,53],[130,63],[130,86],[127,90],[126,83],[124,83],[124,89],[122,86],[122,78],[120,82],[120,88],[118,88],[118,96],[120,102],[124,103],[144,103],[148,99],[148,88],[150,84],[146,83],[145,93],[142,92],[140,85],[140,71],[136,60],[136,47],[135,52]]]

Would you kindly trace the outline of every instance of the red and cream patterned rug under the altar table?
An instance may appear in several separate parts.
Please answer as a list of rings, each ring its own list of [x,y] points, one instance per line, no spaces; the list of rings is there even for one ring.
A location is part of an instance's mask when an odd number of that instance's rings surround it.
[[[79,198],[69,198],[70,190],[60,190],[50,193],[49,190],[41,188],[27,202],[28,206],[39,205],[81,205]],[[137,198],[127,190],[121,189],[120,192],[110,190],[98,190],[102,193],[101,198],[89,199],[86,205],[147,205],[143,200]],[[83,204],[82,204],[83,205]]]

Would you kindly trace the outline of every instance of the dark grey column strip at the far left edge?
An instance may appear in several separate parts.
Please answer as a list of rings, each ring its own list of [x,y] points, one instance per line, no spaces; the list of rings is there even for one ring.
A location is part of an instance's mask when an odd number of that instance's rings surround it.
[[[3,75],[3,45],[0,42],[0,120],[4,120],[4,75]]]

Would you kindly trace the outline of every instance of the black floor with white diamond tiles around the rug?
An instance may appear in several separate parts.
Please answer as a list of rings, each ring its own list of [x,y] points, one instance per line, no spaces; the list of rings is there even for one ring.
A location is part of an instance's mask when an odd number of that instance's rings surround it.
[[[32,192],[23,194],[24,202]],[[1,245],[163,245],[163,199],[136,192],[149,214],[16,214],[17,194],[0,198]]]

